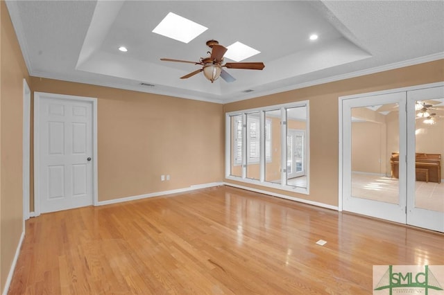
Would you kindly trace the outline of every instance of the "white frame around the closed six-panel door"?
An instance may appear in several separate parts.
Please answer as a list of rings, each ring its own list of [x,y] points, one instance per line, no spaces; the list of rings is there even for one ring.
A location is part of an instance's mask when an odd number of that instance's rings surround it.
[[[92,204],[99,204],[99,189],[97,179],[97,98],[85,96],[70,96],[58,93],[34,92],[34,213],[39,216],[40,211],[40,105],[44,98],[59,100],[75,100],[89,102],[92,105]]]

